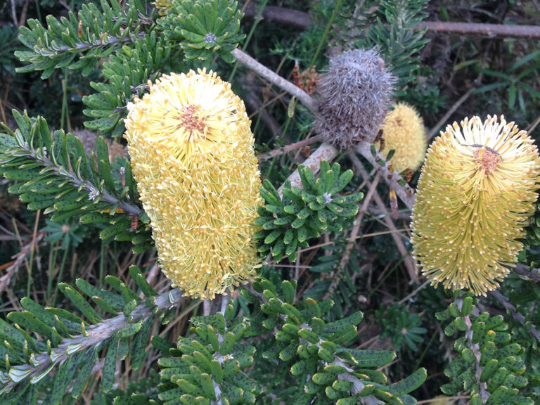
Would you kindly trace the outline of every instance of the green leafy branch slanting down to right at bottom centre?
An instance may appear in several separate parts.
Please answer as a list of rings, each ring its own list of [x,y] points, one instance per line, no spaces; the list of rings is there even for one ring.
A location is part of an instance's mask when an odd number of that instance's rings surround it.
[[[290,383],[292,375],[296,387],[288,397],[292,404],[416,404],[408,393],[425,380],[424,368],[388,385],[378,368],[390,364],[394,352],[345,346],[356,338],[356,326],[363,319],[360,311],[326,322],[333,307],[331,300],[296,301],[295,281],[283,281],[279,287],[281,292],[271,281],[259,278],[252,283],[252,290],[242,290],[249,302],[263,302],[260,313],[251,319],[253,327],[262,327],[259,333],[278,329],[275,344],[262,353],[271,368],[283,370],[274,375],[276,392],[288,392],[283,384],[285,380]]]

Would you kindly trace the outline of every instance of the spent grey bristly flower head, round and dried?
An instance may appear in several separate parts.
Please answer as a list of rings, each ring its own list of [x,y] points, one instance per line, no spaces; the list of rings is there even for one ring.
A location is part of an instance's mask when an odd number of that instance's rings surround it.
[[[330,59],[319,82],[314,128],[341,149],[373,141],[383,124],[394,77],[378,53],[355,49]]]

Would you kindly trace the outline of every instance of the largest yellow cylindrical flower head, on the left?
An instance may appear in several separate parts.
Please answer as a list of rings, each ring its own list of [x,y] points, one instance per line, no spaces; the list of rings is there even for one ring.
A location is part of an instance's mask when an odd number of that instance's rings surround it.
[[[243,101],[212,71],[163,75],[124,134],[162,271],[191,297],[255,276],[259,169]]]

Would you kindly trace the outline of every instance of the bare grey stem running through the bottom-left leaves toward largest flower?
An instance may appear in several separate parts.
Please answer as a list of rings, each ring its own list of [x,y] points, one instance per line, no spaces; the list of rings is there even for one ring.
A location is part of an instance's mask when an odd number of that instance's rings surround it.
[[[75,338],[65,339],[63,342],[58,345],[58,347],[52,349],[51,354],[38,354],[35,356],[38,366],[33,367],[30,364],[24,364],[21,366],[13,366],[9,373],[15,371],[20,375],[21,372],[30,371],[27,375],[27,378],[32,378],[40,373],[46,371],[46,369],[51,366],[53,363],[51,357],[55,359],[55,364],[61,364],[63,361],[68,359],[68,352],[74,354],[74,347],[78,347],[77,352],[81,350],[89,349],[94,347],[99,343],[112,338],[115,332],[122,328],[126,328],[131,323],[135,323],[141,320],[148,319],[154,313],[154,307],[158,307],[158,312],[165,311],[179,305],[183,301],[182,292],[179,288],[170,290],[167,293],[163,293],[155,297],[155,304],[153,307],[147,307],[145,302],[141,302],[129,315],[131,321],[129,321],[124,314],[115,316],[114,318],[107,319],[97,325],[91,326],[86,330],[86,336],[78,335]],[[15,386],[15,382],[10,379],[9,383],[6,385],[7,390],[11,390]]]

